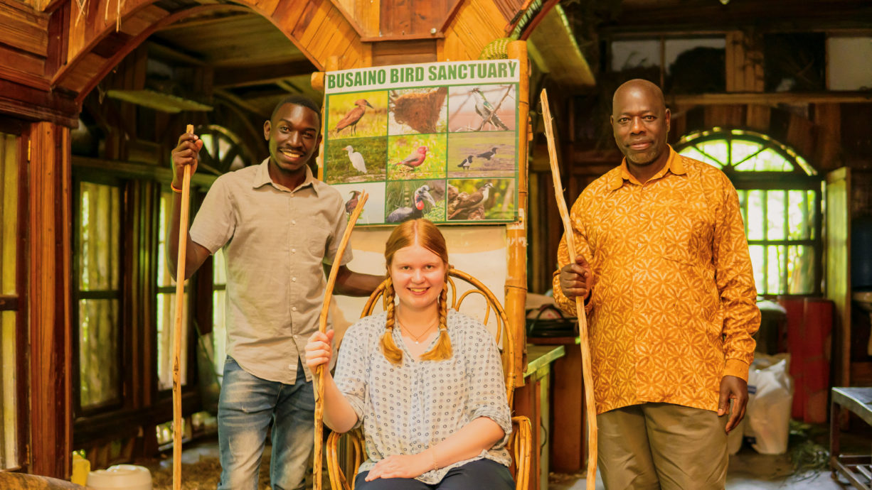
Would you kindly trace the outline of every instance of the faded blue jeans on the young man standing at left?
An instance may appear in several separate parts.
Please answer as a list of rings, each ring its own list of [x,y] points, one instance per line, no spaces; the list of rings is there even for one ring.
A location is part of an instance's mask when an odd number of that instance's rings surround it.
[[[314,446],[315,393],[300,360],[296,362],[296,384],[285,385],[246,373],[228,356],[218,400],[219,490],[257,490],[270,421],[272,488],[303,488]]]

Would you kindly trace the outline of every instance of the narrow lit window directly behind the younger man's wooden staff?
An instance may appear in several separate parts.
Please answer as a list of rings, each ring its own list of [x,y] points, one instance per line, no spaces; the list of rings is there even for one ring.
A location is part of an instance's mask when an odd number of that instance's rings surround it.
[[[167,239],[172,224],[173,191],[165,188],[160,192],[160,231],[158,234],[158,282],[157,282],[157,332],[158,332],[158,389],[173,387],[173,352],[175,326],[175,277],[167,265]],[[187,384],[187,305],[190,283],[185,285],[185,298],[181,312],[181,385]]]

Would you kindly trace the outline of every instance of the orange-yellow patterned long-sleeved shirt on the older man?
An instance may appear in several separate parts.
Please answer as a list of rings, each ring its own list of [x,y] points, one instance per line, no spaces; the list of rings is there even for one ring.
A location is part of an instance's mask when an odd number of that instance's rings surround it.
[[[626,160],[570,211],[594,285],[586,306],[596,412],[645,402],[717,410],[746,379],[760,326],[739,197],[723,172],[671,148],[644,185]],[[560,266],[569,263],[564,236]],[[575,315],[560,291],[558,305]]]

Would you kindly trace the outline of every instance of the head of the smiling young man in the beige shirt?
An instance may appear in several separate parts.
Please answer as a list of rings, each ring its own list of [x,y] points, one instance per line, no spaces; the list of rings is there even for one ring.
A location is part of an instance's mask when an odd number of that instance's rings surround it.
[[[270,170],[282,174],[304,172],[321,143],[320,117],[310,108],[284,104],[272,120],[263,123],[263,138],[269,141]]]

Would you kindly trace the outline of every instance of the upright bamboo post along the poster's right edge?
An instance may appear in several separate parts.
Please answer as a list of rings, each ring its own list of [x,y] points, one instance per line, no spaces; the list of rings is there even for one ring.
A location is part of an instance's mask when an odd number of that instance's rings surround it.
[[[506,275],[506,316],[508,332],[514,339],[514,378],[515,386],[524,382],[524,369],[527,363],[527,144],[531,136],[528,130],[529,104],[529,60],[527,42],[513,41],[508,44],[509,58],[518,60],[521,82],[518,84],[518,220],[507,226],[508,273]]]

